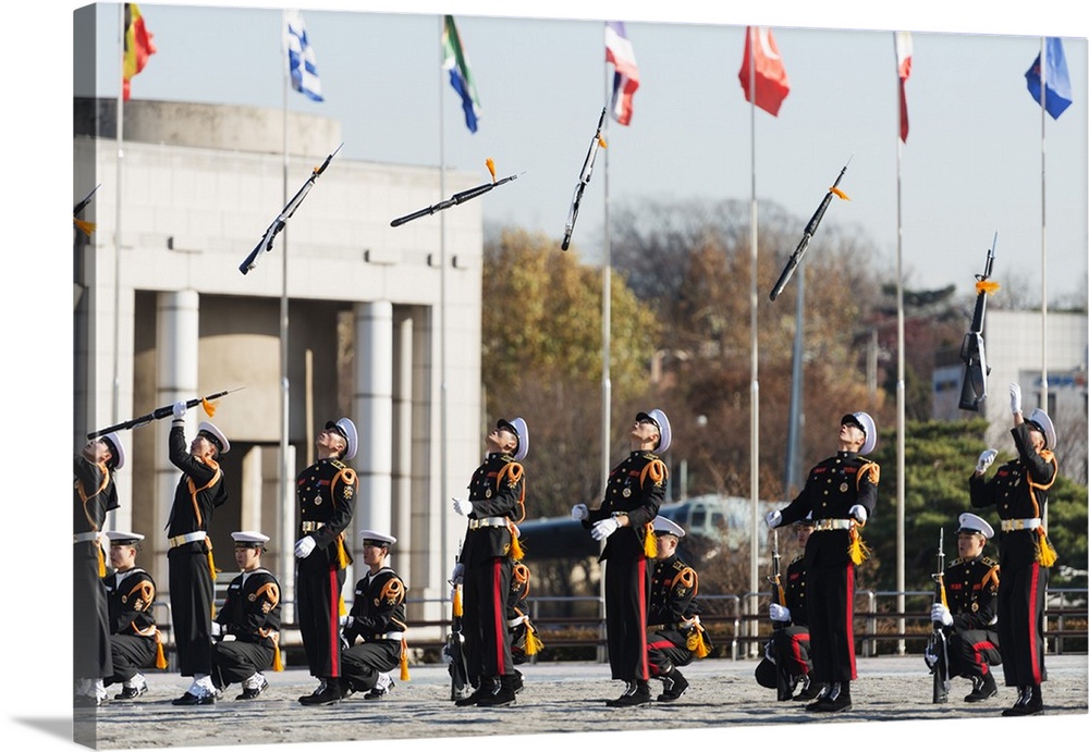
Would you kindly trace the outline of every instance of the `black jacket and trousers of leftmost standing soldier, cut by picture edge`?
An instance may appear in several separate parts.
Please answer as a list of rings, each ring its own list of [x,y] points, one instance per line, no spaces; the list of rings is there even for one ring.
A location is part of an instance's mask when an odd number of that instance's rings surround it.
[[[81,454],[76,455],[73,468],[72,532],[77,541],[72,551],[73,673],[77,679],[106,678],[113,667],[109,612],[101,580],[105,554],[97,533],[102,530],[107,513],[120,506],[118,490],[105,463],[91,463]]]

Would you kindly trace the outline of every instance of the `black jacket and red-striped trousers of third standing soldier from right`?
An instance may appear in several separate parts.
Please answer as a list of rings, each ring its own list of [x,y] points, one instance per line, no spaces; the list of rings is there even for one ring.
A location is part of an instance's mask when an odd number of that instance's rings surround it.
[[[665,464],[653,452],[632,452],[609,473],[605,497],[590,509],[583,527],[626,514],[628,525],[605,539],[600,560],[605,564],[605,630],[613,679],[647,680],[647,616],[651,567],[645,542],[649,522],[665,500]]]

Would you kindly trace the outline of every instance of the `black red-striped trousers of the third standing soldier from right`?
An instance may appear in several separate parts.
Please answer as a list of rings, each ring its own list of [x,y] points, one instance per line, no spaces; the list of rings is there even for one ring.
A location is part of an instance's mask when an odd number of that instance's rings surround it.
[[[610,556],[605,567],[605,630],[609,667],[613,679],[646,681],[650,678],[647,662],[647,594],[650,592],[650,567],[647,557],[627,560]]]

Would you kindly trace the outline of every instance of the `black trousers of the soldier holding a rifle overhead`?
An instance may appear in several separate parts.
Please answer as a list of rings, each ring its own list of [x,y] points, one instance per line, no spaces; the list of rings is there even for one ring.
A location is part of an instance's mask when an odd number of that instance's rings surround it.
[[[170,617],[182,676],[211,674],[211,612],[216,587],[203,541],[167,552]]]

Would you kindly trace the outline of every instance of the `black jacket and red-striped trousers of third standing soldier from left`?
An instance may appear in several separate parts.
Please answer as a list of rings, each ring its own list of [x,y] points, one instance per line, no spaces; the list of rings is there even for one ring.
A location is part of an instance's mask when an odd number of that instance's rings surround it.
[[[298,627],[310,674],[340,677],[340,595],[344,567],[350,562],[343,533],[355,514],[358,492],[355,471],[339,459],[322,458],[303,470],[295,482],[298,497],[298,538],[317,544],[297,559],[295,600]],[[344,557],[343,562],[341,557]]]

